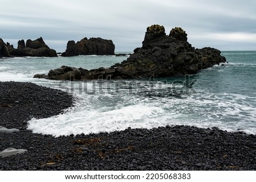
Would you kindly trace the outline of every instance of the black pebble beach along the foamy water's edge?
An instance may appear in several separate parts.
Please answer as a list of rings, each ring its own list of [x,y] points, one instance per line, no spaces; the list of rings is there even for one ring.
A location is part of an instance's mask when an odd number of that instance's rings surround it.
[[[0,82],[0,170],[256,170],[256,136],[218,128],[166,126],[112,133],[52,137],[27,130],[31,117],[72,107],[65,92],[33,83]]]

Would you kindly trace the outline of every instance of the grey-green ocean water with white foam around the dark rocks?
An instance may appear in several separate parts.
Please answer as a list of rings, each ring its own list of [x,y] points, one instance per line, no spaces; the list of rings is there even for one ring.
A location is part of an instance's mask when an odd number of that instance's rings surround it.
[[[131,128],[193,125],[256,134],[256,51],[223,51],[228,63],[195,75],[138,80],[52,81],[33,78],[62,65],[109,67],[127,56],[16,57],[0,59],[0,81],[32,82],[67,91],[75,105],[36,119],[35,133],[67,136]],[[18,89],[18,88],[17,88]],[[21,121],[22,122],[22,121]]]

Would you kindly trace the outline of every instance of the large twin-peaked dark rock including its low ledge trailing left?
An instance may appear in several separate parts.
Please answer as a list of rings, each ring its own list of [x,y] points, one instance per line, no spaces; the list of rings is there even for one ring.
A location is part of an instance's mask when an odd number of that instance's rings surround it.
[[[75,42],[69,41],[69,44],[75,47]],[[77,46],[80,44],[82,43],[77,43]],[[226,58],[220,53],[220,50],[214,48],[193,48],[188,43],[187,33],[182,28],[172,28],[170,34],[166,35],[163,26],[152,25],[147,27],[142,47],[134,49],[134,53],[121,64],[92,70],[61,66],[50,70],[47,75],[37,74],[34,78],[89,80],[196,74],[201,69],[225,62]]]

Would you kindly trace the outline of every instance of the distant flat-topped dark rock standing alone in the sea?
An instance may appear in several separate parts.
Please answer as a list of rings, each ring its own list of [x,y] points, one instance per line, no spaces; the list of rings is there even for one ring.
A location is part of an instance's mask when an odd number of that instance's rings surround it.
[[[85,37],[84,39],[75,43],[70,40],[67,44],[67,49],[61,56],[78,56],[78,55],[114,55],[115,45],[112,40],[105,40],[101,38]]]

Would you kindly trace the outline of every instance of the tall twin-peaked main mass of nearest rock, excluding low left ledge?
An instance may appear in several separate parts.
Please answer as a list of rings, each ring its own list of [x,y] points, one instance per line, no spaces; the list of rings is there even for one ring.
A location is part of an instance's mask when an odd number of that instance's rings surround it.
[[[164,27],[147,28],[141,48],[123,62],[121,77],[172,77],[195,74],[198,70],[225,62],[220,50],[195,49],[187,41],[182,28],[173,28],[166,35]]]

